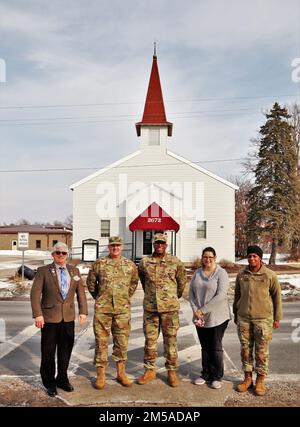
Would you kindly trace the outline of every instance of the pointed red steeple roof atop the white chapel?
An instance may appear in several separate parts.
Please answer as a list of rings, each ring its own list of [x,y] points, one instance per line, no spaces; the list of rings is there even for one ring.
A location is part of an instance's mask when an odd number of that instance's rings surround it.
[[[173,124],[167,122],[164,100],[160,86],[157,56],[154,52],[144,114],[141,122],[136,123],[137,135],[141,135],[142,125],[167,126],[168,136],[172,136]]]

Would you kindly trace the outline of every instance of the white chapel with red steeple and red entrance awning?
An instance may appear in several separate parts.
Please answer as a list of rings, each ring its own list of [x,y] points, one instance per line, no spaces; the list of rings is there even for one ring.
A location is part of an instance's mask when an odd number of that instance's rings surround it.
[[[192,261],[212,246],[218,259],[234,260],[234,184],[168,149],[167,121],[156,54],[143,118],[136,123],[139,150],[73,184],[73,253],[86,239],[124,239],[124,254],[152,252],[152,236],[165,232],[169,252]],[[184,146],[184,143],[183,143]]]

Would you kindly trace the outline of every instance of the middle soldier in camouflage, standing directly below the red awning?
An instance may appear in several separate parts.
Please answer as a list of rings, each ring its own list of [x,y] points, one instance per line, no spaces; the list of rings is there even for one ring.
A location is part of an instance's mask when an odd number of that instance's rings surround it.
[[[144,367],[145,373],[138,384],[145,384],[156,377],[157,339],[163,334],[164,356],[168,382],[172,387],[179,384],[177,369],[177,331],[179,329],[179,298],[187,278],[183,263],[166,253],[167,236],[156,234],[153,239],[154,253],[139,264],[139,277],[144,289]]]

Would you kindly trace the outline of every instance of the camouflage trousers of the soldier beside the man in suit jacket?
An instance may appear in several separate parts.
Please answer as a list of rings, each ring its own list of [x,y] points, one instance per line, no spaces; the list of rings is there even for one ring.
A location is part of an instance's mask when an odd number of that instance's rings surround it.
[[[121,314],[95,313],[95,358],[97,367],[108,363],[108,339],[110,332],[113,337],[112,358],[115,362],[127,360],[128,337],[131,327],[131,313]]]

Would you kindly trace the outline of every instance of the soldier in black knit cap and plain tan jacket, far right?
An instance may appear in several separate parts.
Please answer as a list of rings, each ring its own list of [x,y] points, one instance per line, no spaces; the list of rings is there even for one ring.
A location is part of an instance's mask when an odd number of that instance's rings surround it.
[[[255,347],[255,393],[263,396],[266,393],[264,379],[269,368],[272,329],[279,328],[282,318],[281,288],[276,273],[263,265],[263,251],[259,246],[249,246],[247,256],[249,265],[237,275],[233,303],[245,372],[245,379],[237,386],[237,391],[243,393],[253,385]]]

